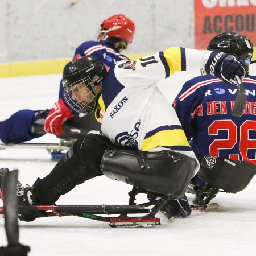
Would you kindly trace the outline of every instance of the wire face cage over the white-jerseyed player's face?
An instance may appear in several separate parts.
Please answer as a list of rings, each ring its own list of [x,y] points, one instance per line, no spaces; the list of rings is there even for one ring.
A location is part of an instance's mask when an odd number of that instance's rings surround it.
[[[88,76],[65,88],[63,96],[70,108],[76,112],[90,114],[97,104],[97,95],[93,89],[95,86]]]

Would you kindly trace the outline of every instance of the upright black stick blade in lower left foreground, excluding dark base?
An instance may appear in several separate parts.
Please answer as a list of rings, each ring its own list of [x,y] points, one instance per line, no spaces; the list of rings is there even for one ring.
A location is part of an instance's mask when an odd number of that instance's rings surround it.
[[[3,183],[3,191],[5,191],[5,229],[8,245],[18,245],[19,243],[17,180],[18,170],[14,170],[6,175]]]

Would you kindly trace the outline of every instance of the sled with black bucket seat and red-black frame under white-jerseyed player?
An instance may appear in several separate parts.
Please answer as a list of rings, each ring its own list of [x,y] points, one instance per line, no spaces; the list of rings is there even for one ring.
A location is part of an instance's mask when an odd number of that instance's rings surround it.
[[[159,168],[162,166],[162,168]],[[49,216],[78,216],[108,222],[112,228],[138,228],[160,225],[155,217],[170,201],[182,197],[195,171],[196,162],[188,156],[172,151],[141,152],[106,150],[102,159],[102,172],[110,179],[133,185],[127,205],[19,205],[21,215],[32,212],[37,218]],[[147,203],[134,203],[138,193],[156,196]],[[151,209],[148,207],[152,207]],[[201,206],[202,207],[202,206]],[[198,209],[199,207],[197,207]],[[0,208],[0,214],[4,207]],[[145,214],[146,213],[146,214]],[[101,215],[119,214],[118,217]],[[144,214],[143,216],[128,216]]]

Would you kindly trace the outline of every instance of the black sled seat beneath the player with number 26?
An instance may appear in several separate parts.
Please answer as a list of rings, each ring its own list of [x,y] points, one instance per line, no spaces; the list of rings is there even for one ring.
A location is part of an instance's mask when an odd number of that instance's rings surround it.
[[[205,181],[205,185],[189,185],[188,191],[195,194],[195,205],[209,204],[218,192],[235,194],[242,191],[256,174],[256,167],[250,162],[216,156],[196,156],[201,163],[197,175]]]

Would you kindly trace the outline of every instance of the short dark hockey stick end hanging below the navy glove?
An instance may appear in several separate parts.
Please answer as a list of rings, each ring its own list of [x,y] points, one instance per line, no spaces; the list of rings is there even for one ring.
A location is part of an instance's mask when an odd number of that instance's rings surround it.
[[[245,109],[247,95],[245,92],[245,87],[243,86],[240,78],[237,75],[235,76],[235,80],[237,82],[238,94],[234,102],[232,115],[234,115],[235,117],[241,117],[243,114],[243,110]]]

